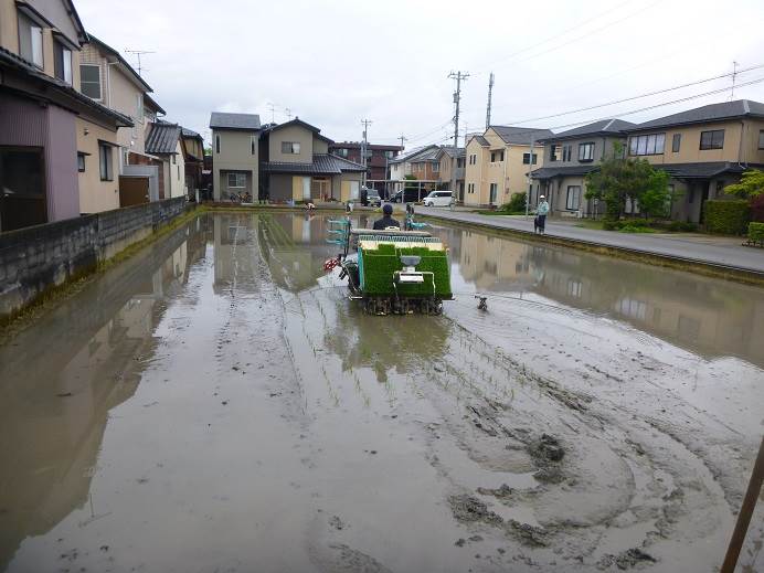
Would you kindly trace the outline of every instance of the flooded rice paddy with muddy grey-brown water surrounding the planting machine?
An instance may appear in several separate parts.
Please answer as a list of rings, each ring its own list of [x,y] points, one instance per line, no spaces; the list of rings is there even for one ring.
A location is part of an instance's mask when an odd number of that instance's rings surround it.
[[[443,317],[363,316],[319,215],[216,214],[8,340],[0,571],[717,570],[764,291],[434,232]]]

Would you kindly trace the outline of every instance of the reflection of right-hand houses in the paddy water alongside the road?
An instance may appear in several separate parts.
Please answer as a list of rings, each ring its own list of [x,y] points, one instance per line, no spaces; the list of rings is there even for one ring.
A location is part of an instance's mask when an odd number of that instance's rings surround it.
[[[460,265],[480,290],[528,289],[703,356],[764,365],[764,297],[750,287],[466,231]]]

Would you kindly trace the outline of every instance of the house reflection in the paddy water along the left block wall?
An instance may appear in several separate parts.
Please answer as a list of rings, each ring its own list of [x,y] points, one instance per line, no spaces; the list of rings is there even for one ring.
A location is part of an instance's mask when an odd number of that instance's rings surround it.
[[[153,349],[160,301],[203,254],[203,234],[187,236],[194,227],[114,267],[0,348],[0,570],[24,538],[86,502],[108,413],[134,395],[136,359]]]

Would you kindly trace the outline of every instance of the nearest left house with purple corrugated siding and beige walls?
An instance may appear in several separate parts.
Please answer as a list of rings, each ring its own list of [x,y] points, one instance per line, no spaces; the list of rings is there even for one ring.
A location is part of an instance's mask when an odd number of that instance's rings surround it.
[[[118,194],[134,123],[81,92],[87,40],[71,0],[0,0],[0,231],[78,216],[81,189]]]

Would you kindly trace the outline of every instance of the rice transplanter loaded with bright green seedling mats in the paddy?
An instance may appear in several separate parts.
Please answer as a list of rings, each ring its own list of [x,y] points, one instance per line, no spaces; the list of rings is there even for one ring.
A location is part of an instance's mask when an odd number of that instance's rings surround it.
[[[325,263],[348,279],[350,299],[370,315],[439,315],[452,300],[448,248],[426,231],[352,229],[350,217],[329,221],[330,243],[342,252]]]

